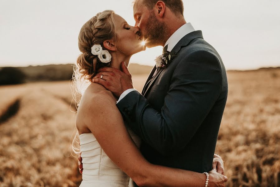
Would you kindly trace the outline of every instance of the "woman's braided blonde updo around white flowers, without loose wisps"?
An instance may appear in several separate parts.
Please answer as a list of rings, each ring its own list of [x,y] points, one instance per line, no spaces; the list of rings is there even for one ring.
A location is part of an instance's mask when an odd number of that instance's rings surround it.
[[[83,78],[92,82],[93,77],[97,74],[97,71],[101,67],[110,66],[109,63],[102,63],[97,55],[91,53],[91,47],[95,44],[100,44],[104,50],[103,41],[116,40],[116,28],[114,22],[114,11],[105,10],[97,13],[86,22],[79,33],[78,46],[82,52],[78,56],[75,77],[76,79]]]

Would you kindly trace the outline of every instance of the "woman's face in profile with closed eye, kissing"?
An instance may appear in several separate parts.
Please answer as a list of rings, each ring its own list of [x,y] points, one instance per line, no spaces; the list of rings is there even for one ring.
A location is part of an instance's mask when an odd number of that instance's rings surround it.
[[[117,14],[114,14],[114,19],[118,51],[130,56],[146,49],[144,42],[140,40],[139,28],[128,25],[126,20]]]

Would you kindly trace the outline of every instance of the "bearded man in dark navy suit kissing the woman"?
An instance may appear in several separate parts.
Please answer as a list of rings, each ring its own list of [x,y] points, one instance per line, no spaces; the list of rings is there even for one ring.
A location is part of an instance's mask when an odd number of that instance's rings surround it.
[[[136,0],[134,18],[147,47],[164,47],[167,63],[164,59],[153,68],[142,94],[133,88],[124,63],[123,72],[103,68],[93,81],[119,98],[116,105],[143,140],[141,152],[149,162],[200,173],[212,170],[228,93],[220,55],[202,31],[186,23],[182,0]],[[100,79],[103,72],[111,72],[110,81]],[[223,174],[221,158],[215,162]]]

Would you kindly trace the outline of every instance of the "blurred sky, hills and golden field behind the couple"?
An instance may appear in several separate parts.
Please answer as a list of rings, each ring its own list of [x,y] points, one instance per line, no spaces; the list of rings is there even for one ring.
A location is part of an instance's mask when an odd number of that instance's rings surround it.
[[[280,186],[280,1],[183,0],[184,15],[221,55],[229,95],[216,153],[227,186]],[[0,0],[0,187],[77,186],[73,65],[80,28],[132,0]],[[131,58],[139,91],[162,47]],[[78,98],[75,98],[78,99]]]

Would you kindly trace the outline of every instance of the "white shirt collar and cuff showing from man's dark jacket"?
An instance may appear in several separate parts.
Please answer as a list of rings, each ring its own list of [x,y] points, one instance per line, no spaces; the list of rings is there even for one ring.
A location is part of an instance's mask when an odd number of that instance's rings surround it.
[[[194,30],[194,28],[193,28],[193,26],[192,26],[191,23],[186,23],[186,24],[184,24],[184,25],[181,26],[177,31],[175,31],[175,32],[173,33],[173,35],[170,36],[170,38],[168,38],[168,40],[166,41],[164,47],[165,47],[166,45],[168,45],[168,46],[167,46],[167,51],[170,52],[170,51],[176,46],[176,44],[177,44],[184,36],[186,36],[187,34],[193,32],[193,31],[195,31],[195,30]],[[124,98],[128,93],[130,93],[130,92],[132,92],[132,91],[137,91],[137,90],[136,90],[136,89],[133,89],[133,88],[132,88],[132,89],[127,89],[126,91],[124,91],[124,92],[121,94],[121,96],[120,96],[119,100],[117,101],[117,103],[120,102],[120,100],[121,100],[122,98]]]

